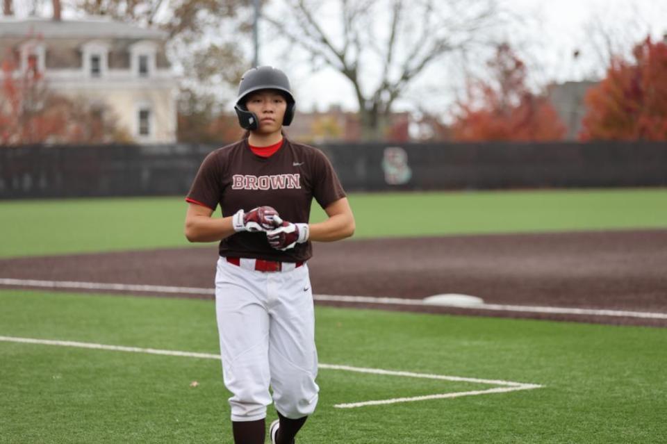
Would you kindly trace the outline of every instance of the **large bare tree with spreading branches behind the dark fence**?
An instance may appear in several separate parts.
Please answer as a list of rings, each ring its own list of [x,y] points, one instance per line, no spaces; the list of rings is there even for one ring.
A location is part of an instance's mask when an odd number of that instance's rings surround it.
[[[336,3],[332,17],[330,7]],[[443,56],[484,44],[499,24],[495,0],[283,0],[265,15],[282,38],[354,88],[363,138],[381,138],[385,117]]]

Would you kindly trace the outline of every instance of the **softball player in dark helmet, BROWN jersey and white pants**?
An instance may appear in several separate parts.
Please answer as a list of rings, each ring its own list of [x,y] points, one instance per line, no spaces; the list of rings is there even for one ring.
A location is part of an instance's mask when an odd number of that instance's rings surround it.
[[[352,236],[354,216],[327,157],[283,134],[295,113],[283,72],[243,74],[235,108],[248,131],[201,163],[185,233],[190,242],[220,241],[215,309],[234,442],[264,443],[273,402],[271,442],[294,443],[319,391],[311,242]],[[329,216],[318,224],[308,224],[313,197]],[[217,205],[222,217],[211,217]]]

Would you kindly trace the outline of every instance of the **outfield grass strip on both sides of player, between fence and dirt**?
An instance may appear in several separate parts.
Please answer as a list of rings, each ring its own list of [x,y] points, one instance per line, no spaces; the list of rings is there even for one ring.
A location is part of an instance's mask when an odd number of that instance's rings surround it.
[[[358,193],[349,199],[356,239],[667,227],[667,189]],[[185,212],[183,197],[0,202],[0,258],[185,247]],[[313,204],[313,222],[323,218]]]

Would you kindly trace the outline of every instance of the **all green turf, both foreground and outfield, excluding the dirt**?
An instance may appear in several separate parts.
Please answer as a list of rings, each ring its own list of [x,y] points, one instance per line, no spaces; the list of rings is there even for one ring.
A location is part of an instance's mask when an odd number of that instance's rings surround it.
[[[356,238],[667,227],[667,190],[350,200]],[[185,205],[180,197],[1,202],[0,257],[186,246]],[[494,386],[322,368],[320,406],[299,443],[663,443],[667,436],[667,329],[321,306],[316,316],[321,363],[543,388],[338,409]],[[217,353],[213,304],[190,299],[0,290],[0,336]],[[228,396],[214,359],[0,340],[0,443],[230,443]]]

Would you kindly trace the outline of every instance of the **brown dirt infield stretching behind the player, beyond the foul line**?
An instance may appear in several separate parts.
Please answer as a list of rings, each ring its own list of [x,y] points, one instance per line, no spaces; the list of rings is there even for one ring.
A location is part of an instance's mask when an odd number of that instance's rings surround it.
[[[15,258],[0,260],[0,278],[211,287],[216,258],[213,245]],[[667,230],[318,243],[315,257],[308,265],[314,293],[324,295],[422,299],[442,293],[463,293],[481,297],[487,304],[667,313]],[[440,306],[361,306],[667,326],[664,319]]]

